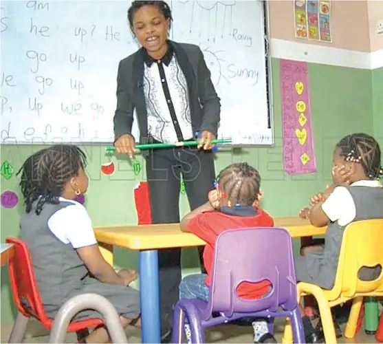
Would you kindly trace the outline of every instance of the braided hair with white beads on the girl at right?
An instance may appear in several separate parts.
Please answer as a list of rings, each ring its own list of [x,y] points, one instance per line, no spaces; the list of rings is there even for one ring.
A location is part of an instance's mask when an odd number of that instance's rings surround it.
[[[371,180],[382,178],[380,147],[375,138],[366,133],[353,133],[342,138],[336,147],[340,149],[340,156],[347,161],[360,163],[367,178]]]

